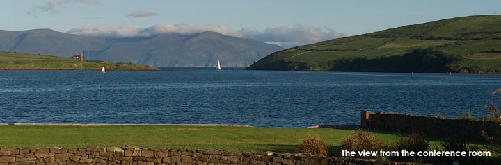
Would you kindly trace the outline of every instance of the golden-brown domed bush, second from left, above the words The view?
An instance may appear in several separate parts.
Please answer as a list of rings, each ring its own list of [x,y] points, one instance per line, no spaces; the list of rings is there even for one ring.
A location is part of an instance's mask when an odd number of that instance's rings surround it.
[[[376,135],[367,132],[365,130],[357,129],[355,132],[349,135],[347,139],[344,140],[342,144],[341,150],[349,150],[349,151],[379,151],[384,148],[383,142],[379,141]],[[356,155],[356,158],[360,159],[381,159],[381,157],[362,157],[360,155]]]

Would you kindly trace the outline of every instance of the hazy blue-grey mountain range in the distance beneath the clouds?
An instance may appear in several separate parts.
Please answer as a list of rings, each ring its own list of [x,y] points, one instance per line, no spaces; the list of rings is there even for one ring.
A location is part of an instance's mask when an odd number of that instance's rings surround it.
[[[102,38],[51,29],[0,31],[0,51],[70,57],[85,51],[86,60],[134,62],[155,67],[248,67],[283,48],[215,32],[163,33],[150,37]]]

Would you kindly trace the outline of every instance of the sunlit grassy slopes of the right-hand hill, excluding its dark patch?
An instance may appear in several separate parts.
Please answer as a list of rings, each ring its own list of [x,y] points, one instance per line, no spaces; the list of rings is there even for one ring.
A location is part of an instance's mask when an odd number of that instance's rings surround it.
[[[452,67],[456,72],[501,73],[498,29],[501,15],[443,19],[286,49],[262,58],[249,69],[328,71],[326,63],[341,58],[380,58],[432,49],[464,57]]]

